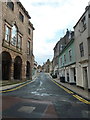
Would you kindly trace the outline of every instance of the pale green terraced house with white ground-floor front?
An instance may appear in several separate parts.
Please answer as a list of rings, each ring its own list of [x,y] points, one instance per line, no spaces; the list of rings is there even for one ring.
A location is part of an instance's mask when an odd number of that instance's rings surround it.
[[[65,41],[65,39],[63,39]],[[65,82],[76,83],[74,32],[68,31],[67,44],[59,54],[59,76]],[[62,44],[61,44],[62,45]]]

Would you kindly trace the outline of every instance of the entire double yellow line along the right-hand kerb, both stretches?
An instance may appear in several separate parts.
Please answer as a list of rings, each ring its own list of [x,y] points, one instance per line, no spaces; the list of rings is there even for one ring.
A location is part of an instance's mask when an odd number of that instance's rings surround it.
[[[81,101],[83,103],[86,103],[86,104],[90,104],[90,101],[80,97],[79,95],[76,95],[74,92],[68,90],[67,88],[63,87],[62,85],[60,85],[59,83],[55,82],[54,80],[51,80],[51,81],[54,82],[56,85],[58,85],[63,90],[65,90],[67,93],[72,94],[72,96],[75,97],[76,99],[78,99],[79,101]]]

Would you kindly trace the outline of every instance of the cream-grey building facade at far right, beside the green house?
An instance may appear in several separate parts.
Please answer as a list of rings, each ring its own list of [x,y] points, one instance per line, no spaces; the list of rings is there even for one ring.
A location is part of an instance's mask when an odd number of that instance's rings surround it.
[[[80,17],[76,25],[76,74],[77,85],[84,89],[90,89],[90,5]]]

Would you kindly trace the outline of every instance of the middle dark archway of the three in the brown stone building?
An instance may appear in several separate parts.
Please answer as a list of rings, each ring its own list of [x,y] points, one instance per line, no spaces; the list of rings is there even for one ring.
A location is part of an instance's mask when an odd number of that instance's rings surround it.
[[[20,56],[17,56],[14,60],[14,79],[20,80],[22,73],[22,59]]]

